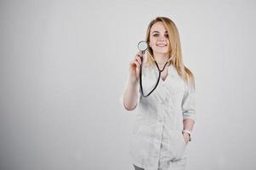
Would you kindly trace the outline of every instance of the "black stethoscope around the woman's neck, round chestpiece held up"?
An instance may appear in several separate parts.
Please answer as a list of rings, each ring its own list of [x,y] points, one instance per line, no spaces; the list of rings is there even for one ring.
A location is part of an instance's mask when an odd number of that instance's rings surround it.
[[[157,70],[158,70],[158,78],[157,78],[157,82],[156,82],[156,85],[155,87],[151,90],[151,92],[149,94],[144,94],[144,91],[143,91],[143,87],[142,87],[142,63],[143,63],[143,56],[145,54],[145,50],[148,48],[148,43],[145,42],[145,41],[140,41],[138,43],[138,49],[139,51],[141,51],[142,53],[142,56],[140,56],[140,59],[141,59],[141,65],[140,65],[140,69],[139,69],[139,89],[140,89],[140,93],[142,94],[143,97],[148,97],[149,95],[152,94],[152,92],[156,89],[159,81],[160,81],[160,77],[161,77],[161,73],[162,71],[165,69],[165,66],[168,64],[168,62],[173,59],[173,57],[170,57],[170,59],[168,59],[168,61],[166,61],[165,65],[163,66],[162,70],[159,68],[156,60],[154,58],[151,58],[153,59],[153,61],[155,62],[156,64],[156,67],[157,67]]]

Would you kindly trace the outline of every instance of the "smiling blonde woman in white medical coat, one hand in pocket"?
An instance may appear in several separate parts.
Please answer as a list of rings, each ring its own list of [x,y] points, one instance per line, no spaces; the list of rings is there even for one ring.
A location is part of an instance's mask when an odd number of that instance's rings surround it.
[[[134,169],[185,169],[185,148],[196,120],[194,77],[184,65],[179,32],[172,20],[152,20],[145,40],[149,44],[146,59],[142,65],[139,52],[131,61],[122,98],[126,110],[137,111],[129,145]],[[145,72],[143,88],[150,91],[146,83],[158,76],[155,61],[163,71],[157,88],[145,98],[139,91],[139,68]]]

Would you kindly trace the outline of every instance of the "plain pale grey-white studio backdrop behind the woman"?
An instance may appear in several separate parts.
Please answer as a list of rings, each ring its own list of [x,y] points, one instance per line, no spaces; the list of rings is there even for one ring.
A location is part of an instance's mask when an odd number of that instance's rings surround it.
[[[120,104],[149,22],[196,77],[188,170],[255,169],[256,2],[0,1],[0,169],[133,169]]]

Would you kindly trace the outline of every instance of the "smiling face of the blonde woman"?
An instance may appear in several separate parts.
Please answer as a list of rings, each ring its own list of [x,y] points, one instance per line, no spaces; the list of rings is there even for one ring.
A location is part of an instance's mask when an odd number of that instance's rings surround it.
[[[153,50],[153,54],[168,55],[169,44],[168,31],[162,22],[156,22],[151,26],[150,33],[150,47]]]

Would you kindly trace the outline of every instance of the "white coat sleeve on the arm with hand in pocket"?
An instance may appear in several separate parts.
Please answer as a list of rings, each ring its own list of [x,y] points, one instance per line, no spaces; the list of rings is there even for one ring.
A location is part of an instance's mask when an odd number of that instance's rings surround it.
[[[182,99],[183,120],[192,119],[196,121],[196,89],[191,83],[186,83],[185,94]]]

